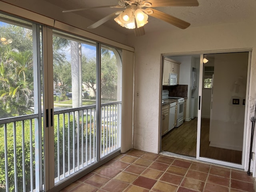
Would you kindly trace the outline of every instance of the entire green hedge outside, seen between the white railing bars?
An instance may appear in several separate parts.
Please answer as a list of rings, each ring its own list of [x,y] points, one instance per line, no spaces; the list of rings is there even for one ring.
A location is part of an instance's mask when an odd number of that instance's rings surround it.
[[[64,122],[63,122],[64,120]],[[86,124],[86,118],[84,118],[84,146],[86,145],[86,136],[87,136],[87,146],[93,146],[93,142],[95,142],[96,135],[94,135],[94,121],[92,117],[92,123],[90,123],[90,116],[87,117],[87,123]],[[81,118],[79,120],[79,132],[80,132],[80,138],[79,138],[79,143],[81,144]],[[59,124],[59,140],[57,137],[58,134],[58,124]],[[64,124],[64,125],[63,125]],[[72,166],[72,154],[73,154],[73,133],[75,134],[75,145],[77,146],[77,123],[75,122],[75,129],[73,130],[73,116],[70,116],[70,122],[68,123],[68,115],[65,115],[65,119],[63,118],[63,115],[59,115],[59,122],[57,121],[56,115],[54,116],[54,161],[58,162],[58,148],[57,145],[59,144],[60,148],[60,174],[63,173],[63,127],[65,128],[64,130],[64,138],[65,138],[65,159],[66,159],[66,164],[68,162],[68,124],[70,126],[70,163]],[[105,138],[104,138],[104,143],[103,143],[103,129],[104,127],[102,126],[102,147],[108,146],[109,143],[112,145],[112,135],[109,138],[110,131],[105,128]],[[87,130],[87,131],[86,131]],[[106,137],[106,132],[108,137]],[[91,138],[91,140],[90,140]],[[91,143],[90,143],[91,142]],[[26,190],[30,191],[30,120],[25,120],[24,121],[24,143],[25,143],[25,176],[26,176]],[[43,148],[43,144],[42,144]],[[10,192],[14,191],[14,137],[13,137],[13,124],[8,123],[7,124],[7,150],[8,150],[8,176],[9,176],[9,189]],[[42,149],[43,150],[43,149]],[[81,150],[81,147],[80,147]],[[86,148],[84,148],[86,150]],[[93,150],[92,150],[93,151]],[[77,153],[77,151],[75,151]],[[17,178],[18,178],[18,191],[23,191],[23,180],[22,180],[22,122],[16,122],[16,154],[17,154]],[[80,151],[81,154],[81,151]],[[35,144],[34,144],[34,120],[32,120],[32,155],[33,155],[33,170],[35,170]],[[77,166],[77,158],[81,157],[76,157],[76,166]],[[81,161],[80,161],[81,162]],[[68,168],[68,166],[66,166]],[[66,170],[67,171],[67,170]],[[55,163],[55,177],[58,174],[58,166],[57,163]],[[33,173],[35,175],[35,173]],[[5,156],[4,156],[4,126],[0,125],[0,192],[4,192],[5,190],[5,185],[6,185],[6,178],[5,178]]]

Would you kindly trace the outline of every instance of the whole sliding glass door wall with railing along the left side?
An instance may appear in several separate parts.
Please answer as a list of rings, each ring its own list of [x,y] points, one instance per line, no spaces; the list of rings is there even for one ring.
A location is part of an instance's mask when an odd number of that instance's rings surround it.
[[[58,191],[120,152],[121,57],[0,14],[0,191]]]

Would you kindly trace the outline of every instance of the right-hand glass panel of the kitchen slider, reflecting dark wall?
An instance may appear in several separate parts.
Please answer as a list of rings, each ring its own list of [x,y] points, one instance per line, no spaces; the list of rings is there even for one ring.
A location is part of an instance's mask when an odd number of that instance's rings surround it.
[[[204,65],[214,66],[214,75],[212,88],[202,90],[200,156],[241,164],[248,52],[207,59]]]

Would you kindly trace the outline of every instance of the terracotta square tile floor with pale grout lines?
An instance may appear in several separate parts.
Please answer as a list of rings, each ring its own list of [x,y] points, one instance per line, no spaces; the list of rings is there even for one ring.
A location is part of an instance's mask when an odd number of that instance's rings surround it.
[[[254,192],[246,172],[130,150],[60,192]]]

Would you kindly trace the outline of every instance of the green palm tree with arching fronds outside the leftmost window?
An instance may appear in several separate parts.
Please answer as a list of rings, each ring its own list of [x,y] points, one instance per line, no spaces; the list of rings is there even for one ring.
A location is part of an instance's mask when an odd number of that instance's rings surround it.
[[[0,64],[0,98],[9,114],[25,115],[33,106],[32,52],[9,50]]]

